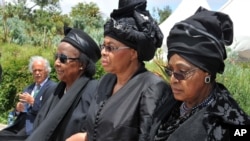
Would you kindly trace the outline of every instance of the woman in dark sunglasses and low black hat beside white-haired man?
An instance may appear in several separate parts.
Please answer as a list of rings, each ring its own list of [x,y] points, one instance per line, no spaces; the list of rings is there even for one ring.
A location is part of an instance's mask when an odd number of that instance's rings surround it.
[[[101,57],[98,45],[79,29],[66,27],[64,34],[54,64],[60,83],[39,111],[27,141],[64,141],[79,132],[97,87],[92,77]]]

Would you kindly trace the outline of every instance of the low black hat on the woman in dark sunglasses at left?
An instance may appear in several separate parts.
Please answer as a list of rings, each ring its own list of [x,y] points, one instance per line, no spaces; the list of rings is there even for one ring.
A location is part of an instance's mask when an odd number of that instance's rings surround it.
[[[93,62],[97,62],[101,57],[100,48],[96,42],[80,29],[65,27],[65,37],[61,42],[68,42],[80,52],[86,54]]]

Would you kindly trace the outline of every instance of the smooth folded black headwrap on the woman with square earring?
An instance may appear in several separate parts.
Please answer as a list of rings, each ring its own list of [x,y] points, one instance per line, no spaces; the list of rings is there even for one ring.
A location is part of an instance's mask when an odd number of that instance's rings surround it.
[[[167,38],[168,60],[178,54],[200,69],[223,73],[225,45],[233,42],[233,22],[221,12],[200,7],[194,15],[176,23]]]

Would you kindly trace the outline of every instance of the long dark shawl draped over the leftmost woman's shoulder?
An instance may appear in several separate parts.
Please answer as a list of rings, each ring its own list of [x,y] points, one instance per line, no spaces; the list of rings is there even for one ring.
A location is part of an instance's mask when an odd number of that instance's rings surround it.
[[[58,128],[61,127],[62,124],[64,125],[63,120],[65,120],[69,110],[75,108],[72,106],[75,102],[79,102],[79,100],[76,101],[76,99],[79,95],[81,96],[83,94],[88,83],[89,78],[81,77],[77,79],[71,88],[64,94],[65,83],[60,82],[54,95],[48,99],[45,106],[38,113],[34,123],[34,131],[28,137],[27,141],[58,140],[54,138],[59,136],[58,134],[62,136],[66,127],[62,127],[61,129]],[[92,88],[92,90],[93,89],[94,88]],[[56,130],[60,130],[57,135],[55,134]]]

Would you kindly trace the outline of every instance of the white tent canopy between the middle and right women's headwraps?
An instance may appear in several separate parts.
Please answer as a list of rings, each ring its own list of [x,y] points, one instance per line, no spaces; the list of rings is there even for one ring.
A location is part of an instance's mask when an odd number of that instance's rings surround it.
[[[173,13],[159,25],[164,34],[162,45],[162,49],[164,52],[167,53],[166,41],[170,29],[174,26],[175,23],[180,22],[193,15],[200,6],[211,10],[206,0],[182,0],[178,7],[173,11]]]

